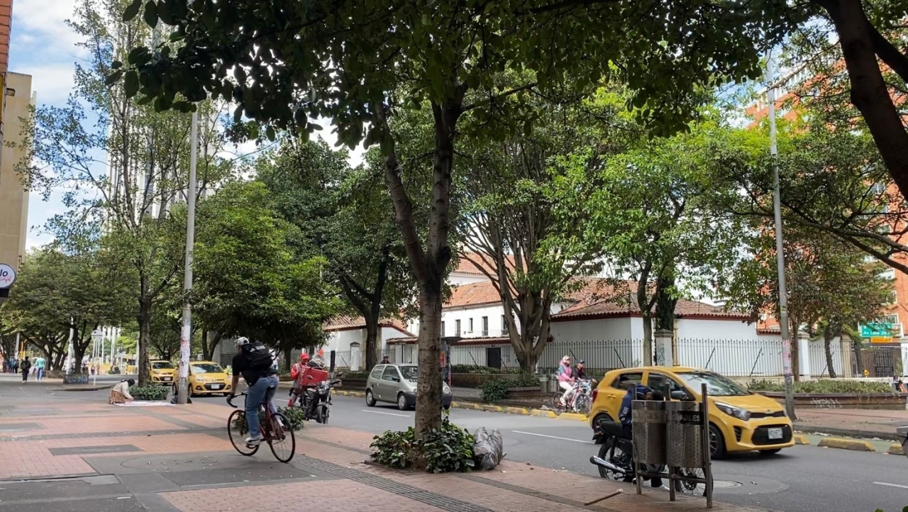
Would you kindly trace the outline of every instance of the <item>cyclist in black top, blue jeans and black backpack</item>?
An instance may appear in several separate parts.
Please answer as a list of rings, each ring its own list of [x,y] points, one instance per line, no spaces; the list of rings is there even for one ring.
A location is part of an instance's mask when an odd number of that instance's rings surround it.
[[[232,387],[236,392],[240,384],[240,376],[246,381],[248,394],[246,395],[246,423],[249,426],[249,438],[246,444],[256,446],[262,443],[262,430],[259,427],[259,406],[266,405],[271,412],[276,412],[271,399],[278,390],[277,372],[271,368],[271,352],[258,341],[250,341],[240,337],[236,341],[236,355],[233,356]],[[232,394],[231,400],[235,397]]]

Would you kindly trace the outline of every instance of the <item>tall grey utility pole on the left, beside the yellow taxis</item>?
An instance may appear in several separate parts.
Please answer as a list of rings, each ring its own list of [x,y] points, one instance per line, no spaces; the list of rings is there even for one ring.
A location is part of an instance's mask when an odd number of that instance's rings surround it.
[[[189,186],[186,192],[186,264],[183,271],[183,334],[180,337],[180,388],[177,403],[185,404],[189,398],[189,350],[192,346],[192,246],[195,244],[195,165],[199,139],[199,113],[192,113],[189,134]]]

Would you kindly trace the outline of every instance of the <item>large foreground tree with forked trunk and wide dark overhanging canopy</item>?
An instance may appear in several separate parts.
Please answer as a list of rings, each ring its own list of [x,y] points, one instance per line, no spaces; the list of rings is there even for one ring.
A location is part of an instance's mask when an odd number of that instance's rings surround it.
[[[765,16],[765,6],[355,0],[262,9],[250,1],[159,0],[145,4],[144,17],[151,25],[160,19],[175,26],[174,42],[154,49],[135,44],[130,67],[114,71],[110,82],[123,77],[128,96],[141,89],[162,108],[177,93],[191,102],[206,96],[235,101],[234,120],[245,115],[264,123],[271,139],[275,129],[321,129],[310,119],[328,117],[342,143],[380,144],[419,287],[415,427],[421,436],[441,422],[439,329],[459,133],[500,136],[508,126],[498,119],[514,106],[509,99],[565,83],[583,89],[604,75],[629,84],[632,102],[646,105],[638,111],[642,117],[663,131],[677,129],[695,113],[696,86],[759,75],[755,43],[772,44],[784,28]],[[141,7],[133,0],[124,17]],[[529,81],[499,86],[508,69],[527,71]],[[395,116],[421,109],[431,113],[434,141],[425,237],[407,189],[414,162],[401,158],[391,130]],[[471,113],[470,123],[460,123],[464,113]]]

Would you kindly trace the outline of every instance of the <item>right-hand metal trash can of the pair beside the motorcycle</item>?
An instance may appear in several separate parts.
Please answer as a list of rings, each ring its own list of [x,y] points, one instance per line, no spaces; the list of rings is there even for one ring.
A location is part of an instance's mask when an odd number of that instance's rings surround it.
[[[703,412],[697,402],[666,402],[666,464],[676,468],[702,468]]]

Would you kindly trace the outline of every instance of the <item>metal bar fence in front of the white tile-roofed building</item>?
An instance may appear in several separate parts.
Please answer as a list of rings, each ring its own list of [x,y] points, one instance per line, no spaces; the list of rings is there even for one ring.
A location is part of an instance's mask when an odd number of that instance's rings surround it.
[[[850,360],[852,350],[850,342],[834,340],[831,346],[833,368],[837,376],[851,376],[854,364]],[[783,374],[781,340],[676,340],[675,364],[695,368],[710,369],[727,377],[766,378],[779,377]],[[809,364],[812,377],[828,377],[824,344],[822,341],[810,341],[801,355],[802,369]],[[393,348],[393,362],[401,360],[398,351]],[[642,340],[587,340],[587,341],[554,341],[548,343],[538,360],[537,371],[550,373],[558,369],[558,363],[564,356],[584,359],[586,368],[592,373],[602,373],[611,369],[635,368],[645,366],[643,361]],[[414,353],[415,356],[415,347]],[[407,356],[403,356],[407,357]],[[876,366],[888,368],[892,356],[888,353],[876,356]],[[410,359],[415,360],[415,359]],[[495,345],[461,345],[451,348],[451,363],[456,365],[478,365],[508,369],[519,366],[514,350],[509,344]],[[872,370],[873,371],[873,370]]]

